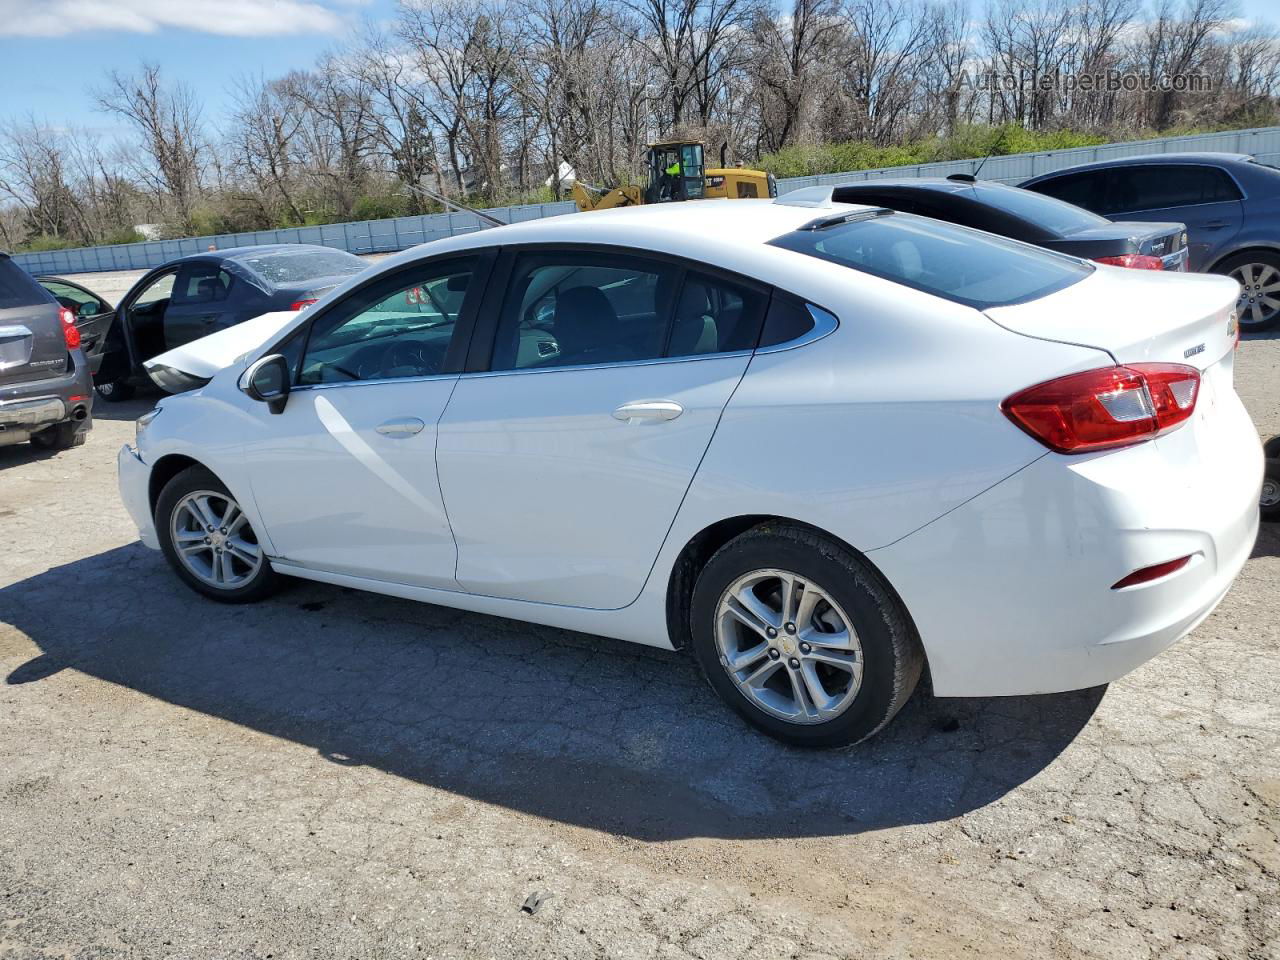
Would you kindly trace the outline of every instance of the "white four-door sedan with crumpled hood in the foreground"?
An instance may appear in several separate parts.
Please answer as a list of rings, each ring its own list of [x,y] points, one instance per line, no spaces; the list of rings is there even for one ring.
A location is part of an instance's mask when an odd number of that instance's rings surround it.
[[[406,251],[160,357],[120,492],[282,576],[692,652],[764,732],[1106,684],[1221,600],[1262,453],[1235,282],[908,214],[689,202]]]

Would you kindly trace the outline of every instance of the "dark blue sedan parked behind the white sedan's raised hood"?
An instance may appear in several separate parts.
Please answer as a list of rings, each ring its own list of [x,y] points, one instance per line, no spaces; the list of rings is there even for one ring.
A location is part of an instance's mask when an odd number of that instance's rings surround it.
[[[233,247],[157,266],[116,307],[93,385],[102,399],[128,399],[147,360],[262,314],[310,306],[365,266],[346,251],[303,243]]]

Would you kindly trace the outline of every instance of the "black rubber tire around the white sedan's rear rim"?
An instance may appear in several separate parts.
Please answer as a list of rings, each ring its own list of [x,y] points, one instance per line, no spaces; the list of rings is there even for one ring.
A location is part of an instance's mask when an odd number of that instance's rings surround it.
[[[740,577],[765,570],[790,571],[820,588],[858,635],[861,684],[831,719],[799,723],[771,714],[739,689],[721,662],[716,639],[721,600]],[[911,696],[924,666],[915,626],[884,579],[849,548],[795,525],[763,524],[717,550],[698,576],[690,617],[694,657],[716,692],[754,727],[797,746],[845,746],[877,733]]]

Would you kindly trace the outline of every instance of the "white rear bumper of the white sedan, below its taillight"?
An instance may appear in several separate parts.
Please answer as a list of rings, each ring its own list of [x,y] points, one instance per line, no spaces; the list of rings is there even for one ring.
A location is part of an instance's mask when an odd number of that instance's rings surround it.
[[[1234,392],[1219,397],[1212,431],[1210,449],[1193,449],[1188,430],[1094,456],[1047,454],[873,550],[915,620],[934,691],[1107,684],[1203,621],[1253,548],[1262,481],[1257,433]],[[1175,573],[1111,589],[1187,556]]]

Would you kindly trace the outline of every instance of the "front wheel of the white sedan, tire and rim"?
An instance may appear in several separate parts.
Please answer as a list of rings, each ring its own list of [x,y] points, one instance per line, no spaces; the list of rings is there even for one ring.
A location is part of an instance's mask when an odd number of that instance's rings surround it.
[[[155,522],[165,559],[197,593],[224,603],[251,603],[276,588],[279,575],[248,517],[204,467],[188,467],[165,484]]]

